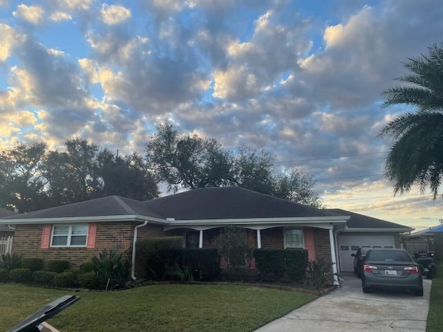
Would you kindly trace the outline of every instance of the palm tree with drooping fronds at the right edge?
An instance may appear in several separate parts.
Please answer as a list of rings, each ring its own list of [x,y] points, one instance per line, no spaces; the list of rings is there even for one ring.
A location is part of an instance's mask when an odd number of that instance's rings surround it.
[[[404,84],[384,92],[383,106],[406,104],[417,111],[391,120],[379,134],[393,140],[386,177],[395,194],[418,185],[421,192],[430,188],[435,199],[443,177],[443,42],[404,66],[410,73],[397,78]]]

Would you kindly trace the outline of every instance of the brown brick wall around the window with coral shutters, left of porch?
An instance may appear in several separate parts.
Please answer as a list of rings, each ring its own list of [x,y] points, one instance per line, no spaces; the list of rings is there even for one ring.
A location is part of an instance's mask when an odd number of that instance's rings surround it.
[[[96,246],[87,248],[41,248],[44,225],[16,225],[12,252],[21,257],[38,257],[49,261],[51,259],[68,259],[73,268],[78,268],[85,261],[98,256],[103,249],[116,249],[123,252],[132,250],[134,227],[140,223],[97,223]],[[146,225],[138,228],[138,239],[164,236],[163,228],[159,225]],[[129,257],[130,258],[130,257]]]

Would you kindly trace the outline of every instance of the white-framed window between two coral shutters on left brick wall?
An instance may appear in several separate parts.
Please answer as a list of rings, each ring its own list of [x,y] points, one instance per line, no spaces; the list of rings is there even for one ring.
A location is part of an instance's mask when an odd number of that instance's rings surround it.
[[[51,247],[86,247],[88,225],[53,225]]]

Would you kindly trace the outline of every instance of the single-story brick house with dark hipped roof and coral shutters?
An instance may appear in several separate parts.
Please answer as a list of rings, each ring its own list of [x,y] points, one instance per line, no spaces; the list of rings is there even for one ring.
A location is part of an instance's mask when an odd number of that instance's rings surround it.
[[[214,187],[143,202],[108,196],[7,216],[0,225],[15,227],[12,252],[69,259],[74,267],[104,248],[134,249],[138,239],[179,235],[184,248],[214,248],[219,231],[227,226],[244,228],[253,248],[304,248],[310,260],[336,262],[337,233],[350,220],[343,214],[240,187]],[[132,279],[138,273],[136,261],[133,253]],[[334,264],[334,273],[339,266]]]

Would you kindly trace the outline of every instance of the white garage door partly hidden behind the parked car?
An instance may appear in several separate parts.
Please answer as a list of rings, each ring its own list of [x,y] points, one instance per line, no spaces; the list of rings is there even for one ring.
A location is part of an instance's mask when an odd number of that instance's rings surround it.
[[[338,255],[340,270],[354,272],[354,257],[359,247],[363,248],[395,248],[392,235],[338,235]]]

